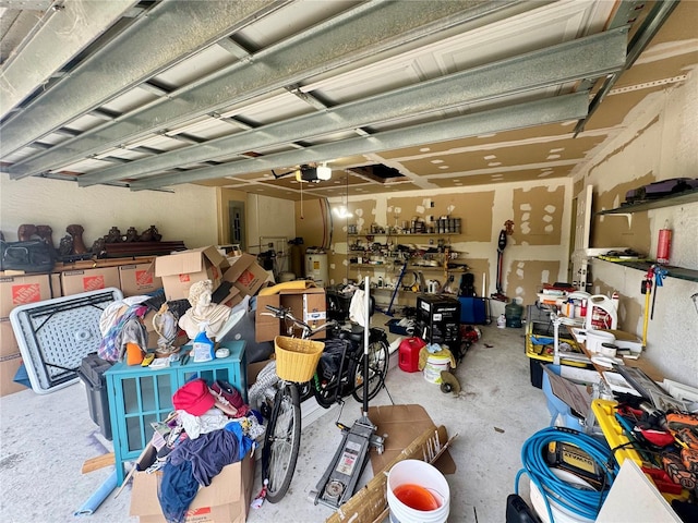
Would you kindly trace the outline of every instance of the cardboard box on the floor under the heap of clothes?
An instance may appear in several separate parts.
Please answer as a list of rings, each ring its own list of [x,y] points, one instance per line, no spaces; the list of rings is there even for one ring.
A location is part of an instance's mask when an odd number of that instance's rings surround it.
[[[154,449],[139,463],[133,474],[130,515],[141,523],[165,523],[157,498],[158,475],[141,472],[155,460]],[[185,523],[244,523],[252,500],[255,461],[244,460],[225,466],[208,487],[200,488],[184,519]]]

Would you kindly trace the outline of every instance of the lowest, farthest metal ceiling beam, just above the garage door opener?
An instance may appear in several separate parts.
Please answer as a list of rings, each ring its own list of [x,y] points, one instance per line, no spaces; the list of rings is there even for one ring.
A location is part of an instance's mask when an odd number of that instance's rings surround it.
[[[481,134],[497,133],[515,129],[544,125],[547,123],[577,120],[588,110],[589,93],[556,96],[516,106],[501,107],[489,111],[455,117],[437,122],[420,123],[405,129],[384,131],[371,136],[322,144],[302,150],[260,156],[217,167],[190,170],[181,173],[152,177],[131,183],[134,191],[158,188],[180,183],[203,182],[217,178],[233,177],[249,172],[270,171],[285,166],[313,161],[329,161],[335,158],[382,150],[433,144]]]

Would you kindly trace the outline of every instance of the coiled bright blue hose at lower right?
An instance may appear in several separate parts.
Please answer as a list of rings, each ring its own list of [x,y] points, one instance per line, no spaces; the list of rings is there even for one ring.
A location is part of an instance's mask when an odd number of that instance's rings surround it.
[[[612,451],[602,442],[583,433],[569,428],[547,427],[528,438],[521,447],[521,469],[516,475],[514,490],[518,494],[519,478],[521,474],[528,474],[531,482],[538,487],[545,501],[550,523],[554,523],[549,498],[569,510],[574,514],[589,520],[595,520],[599,510],[607,495],[607,488],[602,491],[580,489],[553,474],[545,461],[544,450],[551,442],[570,443],[587,452],[600,469],[604,471],[605,487],[611,487],[618,465],[612,459]],[[611,467],[609,463],[612,463]]]

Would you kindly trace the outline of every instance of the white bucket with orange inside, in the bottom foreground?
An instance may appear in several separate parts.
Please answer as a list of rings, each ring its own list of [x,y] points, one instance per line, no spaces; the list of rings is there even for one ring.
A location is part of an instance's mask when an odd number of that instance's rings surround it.
[[[404,503],[398,496],[407,500],[401,490],[410,487],[414,487],[413,491],[417,494],[430,492],[432,497],[426,495],[426,500],[435,500],[438,507],[433,510],[418,510]],[[423,461],[402,460],[393,465],[388,473],[387,498],[390,523],[444,523],[448,520],[450,510],[448,483],[436,467]]]

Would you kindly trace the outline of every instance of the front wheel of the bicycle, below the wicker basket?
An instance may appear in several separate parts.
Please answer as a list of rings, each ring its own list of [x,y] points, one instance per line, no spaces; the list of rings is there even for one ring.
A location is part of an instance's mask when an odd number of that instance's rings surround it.
[[[291,484],[301,445],[301,404],[296,384],[286,384],[274,398],[262,450],[262,479],[268,479],[266,499],[276,503]]]

